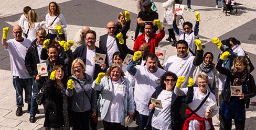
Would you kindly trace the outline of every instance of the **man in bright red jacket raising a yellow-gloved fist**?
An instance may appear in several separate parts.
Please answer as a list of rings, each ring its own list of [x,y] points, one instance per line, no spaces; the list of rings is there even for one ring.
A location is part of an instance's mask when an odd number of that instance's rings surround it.
[[[147,43],[150,45],[150,53],[155,53],[155,47],[158,47],[158,44],[165,36],[164,28],[161,25],[160,21],[156,19],[154,23],[159,28],[159,33],[154,33],[153,23],[152,22],[145,22],[145,31],[142,33],[141,36],[138,36],[133,45],[133,51],[138,51],[140,46],[143,43]]]

